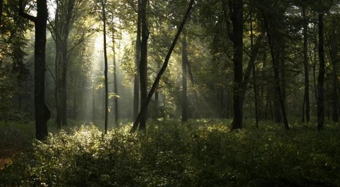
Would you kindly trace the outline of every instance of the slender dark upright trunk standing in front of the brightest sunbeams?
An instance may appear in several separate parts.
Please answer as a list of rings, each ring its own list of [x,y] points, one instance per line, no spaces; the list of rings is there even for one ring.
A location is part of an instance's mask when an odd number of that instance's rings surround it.
[[[108,72],[108,63],[107,63],[107,51],[106,51],[106,12],[105,8],[106,5],[104,3],[105,0],[102,0],[102,16],[103,16],[103,25],[104,25],[104,30],[103,30],[103,39],[104,39],[104,63],[105,63],[105,69],[104,69],[104,77],[105,77],[105,124],[104,124],[104,133],[107,134],[107,129],[108,129],[108,113],[109,113],[109,89],[108,89],[108,77],[107,77],[107,72]]]

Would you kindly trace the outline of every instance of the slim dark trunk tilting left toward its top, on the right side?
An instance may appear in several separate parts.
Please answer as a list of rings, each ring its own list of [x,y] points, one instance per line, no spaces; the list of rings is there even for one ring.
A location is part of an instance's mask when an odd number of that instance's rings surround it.
[[[275,55],[275,52],[274,52],[274,45],[277,45],[277,44],[274,44],[274,40],[271,37],[271,32],[269,31],[266,15],[264,12],[263,12],[263,16],[264,16],[264,21],[265,21],[265,29],[266,29],[267,37],[268,37],[268,43],[270,47],[270,54],[271,54],[273,66],[274,66],[275,90],[278,93],[278,98],[279,98],[279,103],[281,106],[281,112],[282,112],[282,117],[284,120],[285,129],[286,131],[289,131],[289,124],[288,124],[286,109],[285,109],[285,101],[284,101],[283,94],[281,91],[281,86],[280,86],[279,63],[277,59],[278,55]]]

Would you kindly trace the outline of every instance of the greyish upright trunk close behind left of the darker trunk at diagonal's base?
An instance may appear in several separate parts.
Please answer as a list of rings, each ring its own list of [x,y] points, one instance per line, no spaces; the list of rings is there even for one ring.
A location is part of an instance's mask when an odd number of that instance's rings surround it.
[[[137,118],[139,109],[139,60],[141,57],[141,0],[138,0],[138,15],[137,15],[137,36],[136,36],[136,51],[135,51],[135,66],[136,73],[134,75],[133,86],[133,120]]]

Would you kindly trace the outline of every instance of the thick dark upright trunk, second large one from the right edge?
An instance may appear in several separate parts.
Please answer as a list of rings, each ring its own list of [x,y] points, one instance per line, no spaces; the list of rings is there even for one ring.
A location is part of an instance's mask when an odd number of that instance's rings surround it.
[[[324,56],[324,14],[318,14],[318,36],[319,36],[319,75],[317,79],[317,130],[324,129],[325,107],[324,107],[324,79],[325,79],[325,56]]]

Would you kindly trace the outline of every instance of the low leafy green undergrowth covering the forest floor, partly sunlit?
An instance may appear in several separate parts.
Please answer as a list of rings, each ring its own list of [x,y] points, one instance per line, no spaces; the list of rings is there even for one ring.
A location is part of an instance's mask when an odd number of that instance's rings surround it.
[[[31,140],[33,124],[12,124],[1,140],[22,136],[28,149],[0,171],[0,186],[340,186],[337,124],[317,133],[292,123],[287,133],[252,123],[230,132],[230,121],[150,121],[146,133],[129,134],[128,123],[105,136],[83,125],[45,142]]]

